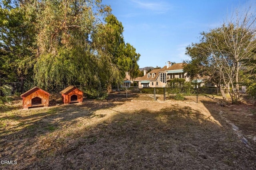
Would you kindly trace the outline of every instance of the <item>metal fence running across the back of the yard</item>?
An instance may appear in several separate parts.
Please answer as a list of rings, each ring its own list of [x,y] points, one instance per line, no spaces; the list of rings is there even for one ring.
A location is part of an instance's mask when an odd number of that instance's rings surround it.
[[[34,83],[24,83],[22,84],[21,82],[3,82],[2,84],[6,84],[9,86],[12,86],[13,90],[12,93],[18,93],[22,94],[31,88],[35,87],[36,84]],[[53,86],[52,90],[48,91],[49,93],[58,93],[61,90],[65,89],[67,86],[66,84],[60,84],[57,86]],[[78,88],[83,88],[81,85],[77,85]],[[156,94],[158,95],[163,95],[164,100],[166,100],[166,97],[170,95],[176,95],[176,94],[182,94],[184,96],[190,96],[190,95],[196,95],[197,96],[197,101],[198,101],[198,95],[220,95],[220,89],[219,88],[194,88],[194,87],[138,87],[138,86],[112,86],[113,90],[116,91],[126,91],[126,97],[130,93],[142,93],[142,94],[154,94],[154,99],[156,100]],[[224,90],[225,94],[231,98],[232,104],[235,104],[239,102],[237,100],[236,96],[236,90]],[[244,99],[249,101],[252,104],[256,104],[256,98],[255,96],[249,96],[246,94],[245,90],[239,90],[238,95],[240,99]]]

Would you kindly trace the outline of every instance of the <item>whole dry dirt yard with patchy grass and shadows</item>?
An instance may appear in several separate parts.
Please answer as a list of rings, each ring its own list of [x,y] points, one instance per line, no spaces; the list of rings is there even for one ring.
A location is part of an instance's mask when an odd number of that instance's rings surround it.
[[[256,108],[148,94],[0,111],[0,169],[256,169]],[[239,134],[246,138],[241,141]],[[254,140],[255,139],[255,140]],[[8,160],[12,164],[3,164]]]

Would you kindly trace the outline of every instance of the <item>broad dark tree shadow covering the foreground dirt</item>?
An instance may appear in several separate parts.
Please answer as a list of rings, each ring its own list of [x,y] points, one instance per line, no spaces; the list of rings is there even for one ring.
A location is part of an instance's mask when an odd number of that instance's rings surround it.
[[[105,107],[108,109],[115,114],[94,126],[82,125],[78,131],[65,137],[48,137],[49,141],[41,142],[44,146],[38,146],[36,152],[26,152],[34,146],[20,148],[20,157],[13,155],[8,158],[22,162],[6,168],[256,168],[255,152],[240,145],[232,131],[227,131],[200,110],[178,104],[158,111],[120,111],[116,107]],[[83,118],[88,117],[90,115]],[[22,155],[25,153],[27,157]],[[6,155],[1,157],[7,158]]]

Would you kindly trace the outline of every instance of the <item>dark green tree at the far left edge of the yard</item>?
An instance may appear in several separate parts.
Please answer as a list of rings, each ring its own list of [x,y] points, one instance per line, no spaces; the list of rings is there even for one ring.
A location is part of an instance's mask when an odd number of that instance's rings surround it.
[[[18,2],[0,2],[0,85],[1,82],[32,80],[34,27]]]

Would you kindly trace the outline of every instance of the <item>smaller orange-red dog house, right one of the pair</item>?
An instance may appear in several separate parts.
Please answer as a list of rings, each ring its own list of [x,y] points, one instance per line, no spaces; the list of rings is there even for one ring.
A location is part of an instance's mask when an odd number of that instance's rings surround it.
[[[62,102],[64,104],[70,104],[70,103],[75,103],[75,102],[83,102],[83,94],[81,90],[76,88],[75,86],[68,86],[61,92],[62,96]]]

